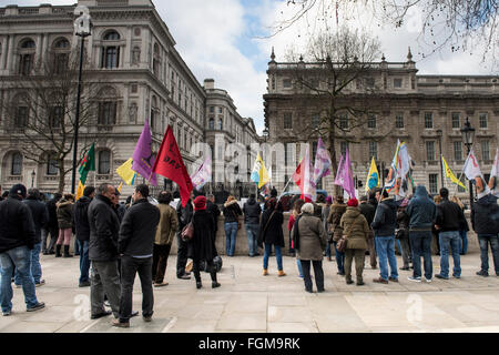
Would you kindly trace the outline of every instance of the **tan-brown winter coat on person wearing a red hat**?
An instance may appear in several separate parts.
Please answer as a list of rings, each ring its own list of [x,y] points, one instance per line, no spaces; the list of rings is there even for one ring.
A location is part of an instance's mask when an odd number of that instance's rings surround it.
[[[367,237],[370,229],[366,217],[358,207],[347,207],[339,225],[343,229],[344,237],[347,240],[347,248],[367,248]]]

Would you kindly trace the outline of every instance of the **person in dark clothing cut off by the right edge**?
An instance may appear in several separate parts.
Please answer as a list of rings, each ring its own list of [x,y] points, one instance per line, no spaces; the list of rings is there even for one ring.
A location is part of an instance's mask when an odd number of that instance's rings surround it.
[[[489,244],[492,250],[496,276],[499,276],[499,206],[498,197],[481,193],[472,204],[471,225],[480,244],[481,267],[478,276],[489,276]]]

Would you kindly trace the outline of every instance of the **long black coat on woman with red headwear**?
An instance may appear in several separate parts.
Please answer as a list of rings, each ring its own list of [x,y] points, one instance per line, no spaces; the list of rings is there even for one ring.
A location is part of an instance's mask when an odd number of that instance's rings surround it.
[[[195,211],[192,217],[194,236],[189,242],[187,255],[195,261],[212,261],[216,255],[215,222],[207,211]]]

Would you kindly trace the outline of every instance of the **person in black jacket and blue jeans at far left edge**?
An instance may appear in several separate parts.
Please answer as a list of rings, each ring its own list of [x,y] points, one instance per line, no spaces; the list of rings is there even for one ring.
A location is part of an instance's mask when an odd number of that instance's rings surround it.
[[[17,184],[10,190],[9,197],[0,202],[0,305],[3,316],[12,313],[11,277],[16,267],[24,293],[28,312],[43,308],[38,302],[34,281],[31,275],[31,251],[35,243],[33,217],[29,206],[22,203],[27,191]]]

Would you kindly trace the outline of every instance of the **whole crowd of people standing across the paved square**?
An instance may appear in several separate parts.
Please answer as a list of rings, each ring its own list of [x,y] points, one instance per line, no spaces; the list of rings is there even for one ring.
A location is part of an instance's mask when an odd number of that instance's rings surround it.
[[[153,287],[164,287],[170,251],[176,241],[176,277],[191,280],[203,287],[201,272],[210,273],[212,288],[220,287],[217,272],[222,261],[216,250],[218,216],[224,215],[225,255],[233,257],[237,231],[244,216],[248,256],[263,251],[263,275],[271,274],[269,258],[274,254],[277,276],[286,276],[283,267],[285,236],[283,204],[277,191],[261,205],[254,194],[241,207],[228,196],[222,209],[213,195],[197,196],[171,204],[173,195],[162,191],[157,205],[150,203],[147,185],[134,187],[126,203],[120,203],[120,192],[104,183],[96,190],[86,186],[77,202],[71,194],[54,194],[43,202],[37,189],[27,191],[17,184],[0,202],[0,303],[2,314],[12,313],[12,282],[22,288],[28,312],[42,310],[44,303],[35,295],[43,286],[40,253],[54,257],[72,257],[70,244],[75,235],[74,251],[80,256],[79,287],[90,287],[92,320],[113,315],[113,325],[129,327],[132,291],[136,274],[142,288],[142,317],[151,322],[154,308]],[[366,255],[371,268],[379,265],[374,283],[398,282],[396,250],[401,255],[400,271],[410,272],[411,282],[431,282],[434,276],[460,278],[460,255],[466,253],[468,223],[464,205],[449,191],[441,189],[431,199],[425,186],[417,186],[414,196],[396,200],[387,191],[371,190],[367,195],[344,201],[342,195],[318,195],[315,202],[292,201],[288,222],[289,254],[296,257],[305,291],[313,292],[310,268],[317,292],[325,291],[323,260],[336,261],[337,274],[346,284],[365,284],[363,273]],[[437,201],[437,202],[435,202]],[[499,276],[499,206],[497,197],[480,194],[471,209],[472,229],[477,233],[481,267],[479,276],[489,275],[489,245],[496,275]],[[434,275],[432,247],[438,241],[440,272]],[[334,254],[334,255],[333,255]],[[454,268],[449,271],[449,255]],[[189,263],[189,260],[192,263]],[[421,265],[422,260],[422,265]],[[106,311],[109,306],[111,311]]]

